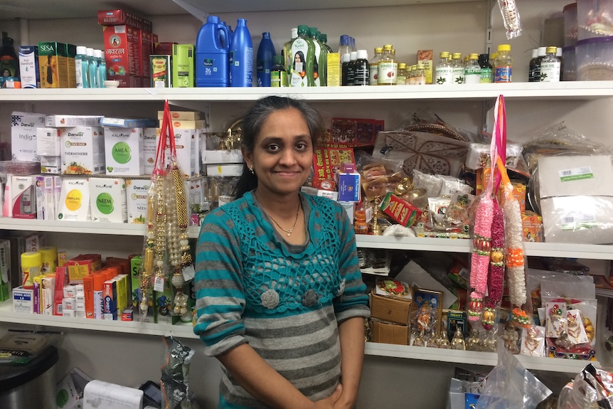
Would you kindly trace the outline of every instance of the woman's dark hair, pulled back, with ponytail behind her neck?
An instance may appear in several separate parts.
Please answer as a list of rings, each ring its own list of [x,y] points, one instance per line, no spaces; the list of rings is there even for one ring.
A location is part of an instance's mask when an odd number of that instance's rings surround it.
[[[287,97],[264,97],[261,100],[257,100],[255,104],[247,111],[245,117],[242,118],[242,135],[240,137],[240,147],[245,152],[253,152],[255,145],[255,138],[257,134],[260,134],[260,129],[264,125],[264,122],[272,112],[279,110],[298,110],[304,121],[307,122],[309,132],[311,132],[311,141],[313,147],[316,147],[319,135],[323,128],[323,121],[319,112],[311,107],[307,102],[294,100]],[[257,187],[257,175],[252,174],[247,168],[247,163],[242,163],[242,175],[239,177],[238,182],[234,189],[234,197],[240,198],[245,192],[252,191]]]

